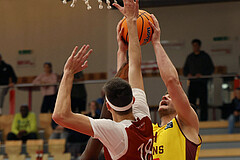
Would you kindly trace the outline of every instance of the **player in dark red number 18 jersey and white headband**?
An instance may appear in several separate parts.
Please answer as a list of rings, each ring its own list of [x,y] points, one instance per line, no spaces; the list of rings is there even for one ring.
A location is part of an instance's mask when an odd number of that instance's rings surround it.
[[[92,119],[71,111],[70,93],[73,75],[87,67],[92,50],[77,47],[64,67],[53,119],[63,127],[99,139],[105,146],[106,159],[148,160],[152,158],[152,125],[141,73],[141,48],[137,24],[138,0],[115,5],[127,19],[129,33],[129,83],[115,78],[104,85],[106,104],[113,121]],[[88,51],[88,52],[87,52]]]

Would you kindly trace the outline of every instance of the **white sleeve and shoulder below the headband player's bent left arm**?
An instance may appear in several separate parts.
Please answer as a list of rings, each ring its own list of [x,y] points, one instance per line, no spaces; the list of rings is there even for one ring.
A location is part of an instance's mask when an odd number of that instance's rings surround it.
[[[128,148],[128,138],[124,125],[107,119],[90,118],[94,138],[105,145],[112,159],[122,157]]]

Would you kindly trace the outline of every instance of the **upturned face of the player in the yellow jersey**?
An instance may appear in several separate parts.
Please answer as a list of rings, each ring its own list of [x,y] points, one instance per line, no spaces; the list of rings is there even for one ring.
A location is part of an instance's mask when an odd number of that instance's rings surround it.
[[[173,116],[173,118],[177,115],[177,112],[173,106],[172,99],[168,93],[166,93],[160,103],[158,108],[158,113],[160,118],[164,116]]]

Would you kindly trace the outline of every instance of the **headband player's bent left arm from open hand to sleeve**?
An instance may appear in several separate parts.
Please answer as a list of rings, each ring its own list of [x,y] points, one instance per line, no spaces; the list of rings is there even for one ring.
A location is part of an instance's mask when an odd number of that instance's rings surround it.
[[[65,64],[52,118],[65,128],[93,136],[89,118],[71,111],[71,90],[74,74],[87,68],[87,58],[92,53],[92,50],[89,50],[89,45],[84,45],[78,53],[77,49],[78,47],[75,47]]]

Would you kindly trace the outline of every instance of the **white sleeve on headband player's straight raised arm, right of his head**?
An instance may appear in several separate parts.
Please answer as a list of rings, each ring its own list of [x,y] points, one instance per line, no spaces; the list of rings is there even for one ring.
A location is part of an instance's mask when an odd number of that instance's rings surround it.
[[[145,92],[139,88],[133,88],[132,92],[133,96],[135,97],[135,102],[133,104],[133,115],[136,117],[139,115],[148,116],[151,119]],[[139,118],[142,118],[142,116]]]

